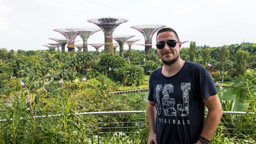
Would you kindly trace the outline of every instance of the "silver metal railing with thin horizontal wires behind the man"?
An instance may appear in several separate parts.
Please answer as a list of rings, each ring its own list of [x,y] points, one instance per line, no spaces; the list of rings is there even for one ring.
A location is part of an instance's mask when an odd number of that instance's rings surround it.
[[[110,139],[116,135],[115,138],[120,137],[121,134],[125,134],[126,138],[131,138],[131,136],[138,132],[139,129],[146,128],[146,113],[145,111],[106,111],[106,112],[84,112],[75,115],[91,115],[90,127],[92,133],[89,133],[91,142],[100,142],[102,139]],[[230,137],[238,136],[236,133],[236,126],[239,124],[239,120],[243,117],[242,115],[255,115],[255,113],[246,113],[238,111],[223,111],[223,116],[220,125],[225,126],[224,131],[218,131],[224,135],[229,135]],[[48,116],[37,116],[36,118],[43,117],[60,117],[62,115],[48,115]],[[0,122],[6,121],[5,119],[0,120]],[[228,132],[228,133],[227,133]],[[248,136],[252,136],[249,135]],[[242,135],[241,135],[242,137]]]

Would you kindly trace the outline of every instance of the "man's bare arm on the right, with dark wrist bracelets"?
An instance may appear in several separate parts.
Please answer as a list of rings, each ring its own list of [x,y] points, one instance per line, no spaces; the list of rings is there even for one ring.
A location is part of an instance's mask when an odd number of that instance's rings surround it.
[[[220,104],[218,94],[205,98],[203,99],[203,101],[206,107],[208,108],[208,114],[205,120],[204,128],[200,136],[208,140],[211,140],[212,136],[216,132],[216,129],[219,125],[223,110]],[[201,142],[197,141],[197,143],[201,143]]]

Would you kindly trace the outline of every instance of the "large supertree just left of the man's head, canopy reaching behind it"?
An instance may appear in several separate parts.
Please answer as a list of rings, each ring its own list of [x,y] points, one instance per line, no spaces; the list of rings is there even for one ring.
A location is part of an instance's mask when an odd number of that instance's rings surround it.
[[[152,48],[152,37],[154,33],[160,29],[166,27],[166,25],[136,25],[131,28],[137,29],[145,37],[145,54],[149,54]]]

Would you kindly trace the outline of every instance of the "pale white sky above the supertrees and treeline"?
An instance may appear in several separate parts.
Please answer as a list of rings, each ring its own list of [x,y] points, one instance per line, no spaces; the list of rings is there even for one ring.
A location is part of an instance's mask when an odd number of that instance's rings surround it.
[[[144,43],[144,36],[130,26],[141,24],[173,28],[180,40],[189,40],[182,47],[189,47],[190,41],[211,47],[240,44],[244,39],[256,43],[255,6],[255,0],[0,0],[0,48],[47,49],[42,45],[56,43],[48,38],[64,37],[52,29],[98,28],[86,20],[110,16],[129,19],[113,34],[136,35],[133,38],[141,39],[136,43]],[[153,45],[155,37],[156,33]],[[82,43],[79,36],[77,40]],[[93,34],[88,39],[88,43],[92,42],[103,43],[103,32]],[[144,49],[144,46],[132,48]],[[95,50],[91,46],[88,49]]]

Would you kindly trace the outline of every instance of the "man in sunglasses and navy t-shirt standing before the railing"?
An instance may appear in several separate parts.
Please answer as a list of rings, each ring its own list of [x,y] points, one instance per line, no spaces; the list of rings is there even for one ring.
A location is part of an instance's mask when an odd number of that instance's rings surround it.
[[[203,66],[180,59],[179,41],[171,28],[160,29],[156,36],[163,66],[149,80],[149,144],[209,143],[222,116],[214,81]]]

